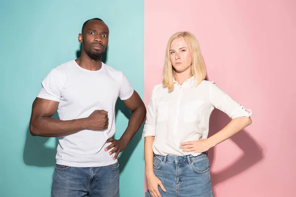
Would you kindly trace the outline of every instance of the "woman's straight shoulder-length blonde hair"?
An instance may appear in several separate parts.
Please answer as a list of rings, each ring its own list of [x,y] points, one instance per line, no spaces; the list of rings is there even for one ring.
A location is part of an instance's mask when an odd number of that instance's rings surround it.
[[[176,76],[176,71],[172,66],[170,60],[170,47],[173,40],[176,38],[183,37],[186,44],[188,45],[189,49],[192,53],[192,64],[190,65],[190,76],[194,76],[196,86],[200,84],[202,80],[206,78],[206,68],[201,56],[199,43],[196,37],[190,32],[178,32],[172,35],[167,43],[166,47],[166,55],[165,55],[165,62],[163,66],[162,72],[162,86],[164,88],[168,88],[171,92],[174,90],[174,79]]]

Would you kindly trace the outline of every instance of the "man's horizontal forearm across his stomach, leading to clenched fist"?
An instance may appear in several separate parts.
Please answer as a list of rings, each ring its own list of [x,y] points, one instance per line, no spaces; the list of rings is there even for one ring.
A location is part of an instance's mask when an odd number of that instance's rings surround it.
[[[38,117],[30,122],[30,131],[33,136],[58,137],[85,130],[85,122],[85,118],[62,121],[49,117]]]

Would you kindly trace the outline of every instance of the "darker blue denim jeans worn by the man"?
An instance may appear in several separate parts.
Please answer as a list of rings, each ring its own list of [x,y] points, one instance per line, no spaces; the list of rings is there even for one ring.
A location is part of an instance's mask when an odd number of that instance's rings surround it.
[[[51,197],[118,197],[119,164],[101,167],[56,165]]]

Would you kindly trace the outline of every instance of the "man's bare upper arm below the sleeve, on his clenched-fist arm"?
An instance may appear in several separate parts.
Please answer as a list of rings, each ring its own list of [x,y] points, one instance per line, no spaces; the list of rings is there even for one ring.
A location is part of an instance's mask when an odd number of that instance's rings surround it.
[[[56,112],[58,105],[59,102],[55,100],[36,98],[33,102],[32,117],[51,117]]]

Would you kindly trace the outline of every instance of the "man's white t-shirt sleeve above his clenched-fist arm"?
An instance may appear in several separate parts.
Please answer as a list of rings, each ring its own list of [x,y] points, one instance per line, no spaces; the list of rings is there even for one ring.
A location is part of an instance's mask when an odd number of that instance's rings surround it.
[[[37,97],[59,102],[61,98],[61,84],[61,75],[56,68],[53,68],[41,82],[42,87]]]

